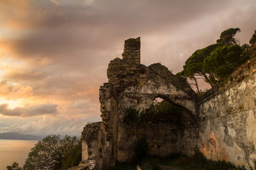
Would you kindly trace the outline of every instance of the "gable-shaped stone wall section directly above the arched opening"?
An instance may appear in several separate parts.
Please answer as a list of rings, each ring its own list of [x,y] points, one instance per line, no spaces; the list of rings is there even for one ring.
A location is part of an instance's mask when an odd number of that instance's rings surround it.
[[[154,98],[161,97],[171,103],[186,108],[193,115],[198,115],[196,108],[196,93],[185,79],[176,77],[166,67],[156,63],[149,67],[140,65],[144,74],[138,74],[136,79],[122,84],[122,98],[127,100],[123,106],[134,106],[138,109],[148,108]],[[150,103],[150,104],[149,104]]]

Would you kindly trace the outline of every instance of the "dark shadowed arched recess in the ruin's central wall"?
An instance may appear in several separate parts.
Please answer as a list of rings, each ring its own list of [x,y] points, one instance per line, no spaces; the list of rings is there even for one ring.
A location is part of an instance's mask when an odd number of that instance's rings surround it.
[[[183,106],[156,96],[151,106],[140,113],[139,121],[137,134],[147,137],[149,154],[166,157],[189,148],[193,152],[191,137],[196,136],[196,120]]]

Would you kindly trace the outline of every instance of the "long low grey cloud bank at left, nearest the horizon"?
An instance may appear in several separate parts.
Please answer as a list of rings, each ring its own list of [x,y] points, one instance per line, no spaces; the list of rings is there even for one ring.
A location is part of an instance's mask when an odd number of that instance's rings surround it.
[[[8,104],[0,105],[0,114],[8,116],[21,116],[31,117],[36,115],[55,115],[57,114],[57,105],[53,104],[41,104],[36,106],[25,106],[23,108],[17,107],[14,109],[8,108]]]

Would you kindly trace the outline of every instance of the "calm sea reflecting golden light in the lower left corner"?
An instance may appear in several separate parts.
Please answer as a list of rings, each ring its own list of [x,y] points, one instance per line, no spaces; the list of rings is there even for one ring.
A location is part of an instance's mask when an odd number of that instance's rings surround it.
[[[6,166],[12,165],[13,162],[23,166],[30,149],[37,142],[37,140],[0,140],[0,170],[6,170]]]

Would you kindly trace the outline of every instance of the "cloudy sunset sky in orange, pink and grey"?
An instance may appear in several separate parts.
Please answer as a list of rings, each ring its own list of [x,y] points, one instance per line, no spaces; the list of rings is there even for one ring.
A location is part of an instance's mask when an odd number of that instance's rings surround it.
[[[124,40],[174,73],[223,30],[256,29],[255,0],[0,0],[0,132],[80,135]]]

